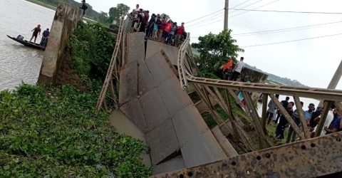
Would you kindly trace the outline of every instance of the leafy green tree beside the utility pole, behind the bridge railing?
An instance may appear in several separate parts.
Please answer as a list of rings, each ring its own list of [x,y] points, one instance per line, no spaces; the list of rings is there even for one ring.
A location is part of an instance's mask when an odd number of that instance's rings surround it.
[[[237,41],[232,38],[231,33],[232,30],[222,31],[218,35],[209,33],[200,36],[199,43],[192,43],[192,48],[200,53],[196,60],[200,71],[215,73],[217,68],[227,62],[228,56],[237,57],[238,52],[244,51],[234,44]]]

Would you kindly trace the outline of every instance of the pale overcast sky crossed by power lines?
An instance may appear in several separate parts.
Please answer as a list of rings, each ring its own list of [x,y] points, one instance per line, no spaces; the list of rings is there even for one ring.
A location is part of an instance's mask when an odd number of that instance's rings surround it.
[[[173,0],[172,3],[157,0],[87,0],[87,3],[96,11],[108,12],[110,7],[123,3],[130,6],[131,9],[135,7],[135,4],[140,4],[140,8],[149,10],[150,13],[168,14],[172,21],[185,22],[185,30],[190,32],[192,43],[197,42],[196,37],[198,36],[204,36],[210,32],[219,33],[223,30],[224,0]],[[341,6],[341,0],[229,0],[229,8],[236,9],[342,13]],[[215,11],[219,12],[212,14]],[[310,87],[326,88],[328,86],[342,60],[342,34],[331,36],[342,33],[342,14],[294,14],[261,11],[247,11],[241,14],[242,12],[245,11],[229,10],[231,17],[228,27],[232,29],[232,37],[237,40],[237,45],[245,50],[244,53],[239,53],[239,56],[244,56],[246,63],[267,73],[299,80]],[[192,21],[208,14],[212,15]],[[322,23],[330,24],[313,26]],[[294,30],[294,27],[299,26],[311,27],[295,28],[296,30]],[[292,29],[285,32],[278,31],[279,33],[237,35],[281,28]],[[329,37],[315,38],[319,36]],[[303,38],[314,39],[254,46]],[[337,89],[342,90],[342,82],[338,84]]]

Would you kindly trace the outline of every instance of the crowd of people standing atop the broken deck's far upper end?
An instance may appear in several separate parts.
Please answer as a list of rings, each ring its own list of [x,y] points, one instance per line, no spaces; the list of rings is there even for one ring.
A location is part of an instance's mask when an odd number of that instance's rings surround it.
[[[179,26],[177,22],[166,19],[165,16],[160,16],[160,14],[150,16],[150,11],[140,9],[139,4],[128,17],[133,21],[132,31],[144,32],[145,38],[179,46],[187,36],[184,22],[180,23]]]

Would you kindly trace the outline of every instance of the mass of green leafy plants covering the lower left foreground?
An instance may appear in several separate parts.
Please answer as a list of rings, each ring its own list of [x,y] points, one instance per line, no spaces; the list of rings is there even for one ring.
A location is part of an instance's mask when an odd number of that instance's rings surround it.
[[[21,85],[0,93],[0,177],[148,177],[141,141],[114,132],[96,95]]]

